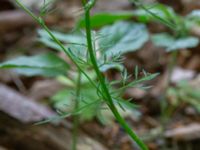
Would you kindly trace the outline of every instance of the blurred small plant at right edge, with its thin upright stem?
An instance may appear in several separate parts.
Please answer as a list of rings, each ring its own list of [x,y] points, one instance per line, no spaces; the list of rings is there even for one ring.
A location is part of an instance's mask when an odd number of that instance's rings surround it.
[[[197,17],[192,17],[191,14],[186,17],[181,17],[172,9],[171,11],[173,12],[171,13],[173,18],[172,21],[176,23],[176,30],[172,30],[171,35],[168,33],[158,33],[152,36],[152,41],[154,44],[159,47],[164,47],[166,52],[168,52],[171,56],[168,64],[168,78],[166,84],[167,92],[165,93],[165,99],[169,93],[168,90],[172,91],[170,81],[172,78],[172,72],[176,66],[179,51],[183,49],[194,48],[199,44],[199,39],[190,35],[191,28],[198,23],[199,18],[197,19]],[[165,100],[162,103],[163,116],[165,116],[164,120],[169,119],[169,116],[175,108],[171,104],[166,104],[166,102],[167,101]]]

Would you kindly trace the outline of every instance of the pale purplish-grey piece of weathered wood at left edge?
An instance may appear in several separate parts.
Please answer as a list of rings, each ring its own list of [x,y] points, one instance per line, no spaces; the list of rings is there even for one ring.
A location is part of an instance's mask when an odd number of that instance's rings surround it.
[[[0,111],[23,123],[37,122],[54,116],[54,112],[13,89],[0,84]]]

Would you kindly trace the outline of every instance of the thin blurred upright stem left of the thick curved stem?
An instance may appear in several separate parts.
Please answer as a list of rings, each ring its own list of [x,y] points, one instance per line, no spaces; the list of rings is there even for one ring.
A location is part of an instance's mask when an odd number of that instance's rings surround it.
[[[81,72],[78,71],[78,78],[76,84],[76,100],[74,110],[76,111],[79,108],[79,97],[81,91]],[[77,115],[73,116],[73,133],[72,133],[72,150],[77,150],[77,137],[78,137],[78,126],[79,126],[79,117]]]

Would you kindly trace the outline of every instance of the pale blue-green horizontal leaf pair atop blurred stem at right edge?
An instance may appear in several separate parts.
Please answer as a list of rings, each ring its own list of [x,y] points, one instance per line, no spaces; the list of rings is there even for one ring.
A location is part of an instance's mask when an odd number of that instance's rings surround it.
[[[165,47],[166,51],[174,51],[186,48],[193,48],[199,44],[199,39],[196,37],[184,37],[175,39],[167,33],[156,34],[152,37],[156,46]]]

